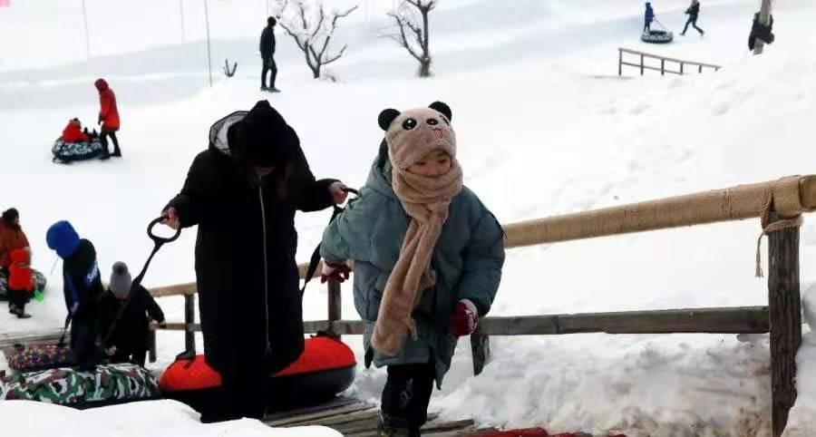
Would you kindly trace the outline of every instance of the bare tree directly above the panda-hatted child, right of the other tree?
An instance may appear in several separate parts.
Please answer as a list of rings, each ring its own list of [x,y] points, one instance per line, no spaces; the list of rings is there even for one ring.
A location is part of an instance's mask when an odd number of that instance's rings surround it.
[[[419,76],[431,75],[431,43],[428,34],[428,15],[439,0],[402,0],[388,13],[393,18],[393,28],[384,36],[403,46],[420,64]]]

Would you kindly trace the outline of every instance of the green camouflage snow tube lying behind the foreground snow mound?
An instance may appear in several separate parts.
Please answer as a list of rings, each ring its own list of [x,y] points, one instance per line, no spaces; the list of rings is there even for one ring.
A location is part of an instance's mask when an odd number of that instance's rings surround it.
[[[150,371],[134,364],[102,364],[93,372],[63,367],[0,377],[0,401],[83,406],[159,397],[159,384]]]

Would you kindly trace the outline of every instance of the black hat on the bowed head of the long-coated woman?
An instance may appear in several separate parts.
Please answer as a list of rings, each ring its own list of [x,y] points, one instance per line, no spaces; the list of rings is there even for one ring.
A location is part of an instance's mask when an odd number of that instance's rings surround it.
[[[262,100],[227,131],[229,151],[250,166],[282,167],[300,140],[283,116]]]

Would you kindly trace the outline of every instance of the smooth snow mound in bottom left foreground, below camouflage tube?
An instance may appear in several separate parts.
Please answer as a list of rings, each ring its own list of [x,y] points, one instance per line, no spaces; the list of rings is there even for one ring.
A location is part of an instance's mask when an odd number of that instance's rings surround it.
[[[46,420],[47,418],[47,420]],[[202,424],[199,414],[175,401],[128,403],[92,410],[51,403],[5,402],[0,422],[15,435],[61,435],[64,437],[312,437],[339,436],[323,426],[269,428],[258,421]]]

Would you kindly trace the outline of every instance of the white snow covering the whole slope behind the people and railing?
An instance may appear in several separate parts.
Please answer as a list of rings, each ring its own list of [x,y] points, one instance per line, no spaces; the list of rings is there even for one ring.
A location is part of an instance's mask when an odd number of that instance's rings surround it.
[[[93,57],[85,61],[81,29],[61,27],[72,20],[81,26],[76,2],[53,0],[55,9],[46,3],[0,9],[0,41],[25,42],[0,44],[0,156],[14,158],[0,161],[0,209],[20,209],[34,266],[50,280],[44,303],[31,305],[34,317],[18,321],[0,312],[0,332],[55,328],[63,321],[61,266],[50,274],[55,256],[44,242],[53,221],[70,219],[92,239],[105,275],[116,260],[138,270],[151,249],[143,229],[180,188],[192,157],[206,146],[209,124],[261,98],[296,128],[318,177],[353,187],[364,183],[382,137],[375,122],[380,111],[448,102],[466,183],[502,223],[814,172],[813,0],[775,2],[777,41],[759,57],[746,49],[758,7],[753,0],[705,1],[698,23],[704,38],[679,36],[685,0],[653,2],[657,19],[675,31],[675,43],[667,46],[640,43],[640,2],[446,0],[432,15],[435,75],[427,80],[414,78],[413,60],[376,37],[387,23],[373,17],[389,2],[368,2],[333,40],[349,44],[329,68],[338,83],[313,81],[301,53],[278,31],[284,92],[275,95],[257,91],[262,2],[210,2],[212,88],[200,5],[184,3],[182,44],[179,17],[172,15],[176,2],[86,0]],[[99,24],[105,20],[121,26],[114,31]],[[151,23],[150,32],[144,23]],[[632,69],[625,70],[627,80],[618,79],[619,46],[724,69],[664,78],[641,78]],[[238,61],[230,80],[218,70],[227,57]],[[50,144],[65,122],[73,116],[95,120],[97,76],[117,92],[125,157],[53,165]],[[329,214],[298,215],[299,259],[311,254]],[[759,232],[758,220],[746,220],[510,250],[491,316],[766,305],[765,279],[753,277]],[[194,241],[190,229],[162,249],[145,284],[192,281]],[[765,254],[763,242],[767,271]],[[811,329],[814,265],[816,225],[806,217],[801,290]],[[354,319],[349,289],[343,314]],[[325,302],[324,287],[310,285],[306,319],[325,318]],[[170,321],[183,320],[180,297],[162,298],[160,305]],[[790,436],[816,429],[811,329],[803,327],[797,356],[799,399]],[[182,337],[160,333],[159,363],[151,368],[160,372],[169,364]],[[362,363],[360,337],[344,339]],[[470,346],[462,340],[432,410],[449,419],[552,432],[765,435],[768,342],[768,335],[493,337],[491,363],[474,378]],[[376,401],[384,371],[358,370],[349,394]],[[123,415],[109,412],[77,414]],[[179,416],[181,422],[184,414]],[[166,426],[175,421],[169,418]],[[122,426],[130,432],[127,427],[136,425]]]

